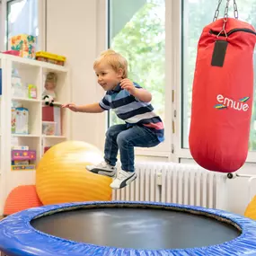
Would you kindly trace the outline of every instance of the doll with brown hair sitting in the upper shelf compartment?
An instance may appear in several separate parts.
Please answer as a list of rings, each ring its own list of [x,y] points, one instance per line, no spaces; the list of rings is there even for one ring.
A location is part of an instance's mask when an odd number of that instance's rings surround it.
[[[55,88],[57,85],[57,75],[53,72],[49,72],[45,80],[45,90],[42,93],[42,100],[45,101],[46,105],[53,106],[56,100]]]

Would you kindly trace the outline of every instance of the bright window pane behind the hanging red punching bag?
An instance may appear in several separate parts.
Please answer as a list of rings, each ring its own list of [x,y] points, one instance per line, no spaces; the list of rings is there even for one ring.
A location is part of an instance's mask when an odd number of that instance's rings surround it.
[[[198,41],[202,29],[213,21],[216,11],[216,1],[208,0],[181,0],[183,7],[182,16],[182,141],[183,148],[189,147],[191,91],[194,76],[194,68],[197,57]],[[218,18],[224,15],[226,1],[220,6]],[[243,0],[238,5],[239,20],[249,22],[256,28],[256,0]],[[229,16],[234,17],[233,1],[230,2]],[[255,59],[254,52],[254,59]],[[255,61],[254,61],[255,62]],[[256,68],[256,65],[254,65]],[[255,70],[256,71],[256,70]],[[256,78],[254,75],[254,88]],[[255,92],[255,90],[254,90]],[[252,108],[252,125],[250,135],[250,150],[256,150],[256,98]]]

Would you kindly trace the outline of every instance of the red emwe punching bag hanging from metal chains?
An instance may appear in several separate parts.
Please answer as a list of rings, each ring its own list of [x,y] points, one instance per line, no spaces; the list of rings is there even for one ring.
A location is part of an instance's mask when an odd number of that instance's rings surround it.
[[[235,1],[235,18],[227,18],[228,2],[224,19],[202,31],[192,88],[190,153],[215,172],[243,166],[252,118],[256,32],[237,19]]]

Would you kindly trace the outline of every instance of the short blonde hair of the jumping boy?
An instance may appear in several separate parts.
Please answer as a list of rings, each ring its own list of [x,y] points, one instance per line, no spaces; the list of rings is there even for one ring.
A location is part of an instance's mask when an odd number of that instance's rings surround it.
[[[112,49],[107,49],[103,51],[100,57],[96,58],[93,63],[93,68],[99,66],[102,62],[108,63],[114,71],[119,72],[119,68],[123,70],[123,78],[128,77],[128,62],[125,57],[121,56],[119,53]]]

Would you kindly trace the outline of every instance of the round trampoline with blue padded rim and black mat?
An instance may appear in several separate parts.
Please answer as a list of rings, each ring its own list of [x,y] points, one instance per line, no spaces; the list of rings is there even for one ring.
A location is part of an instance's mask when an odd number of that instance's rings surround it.
[[[255,256],[256,222],[178,204],[68,203],[4,218],[0,250],[8,256]]]

